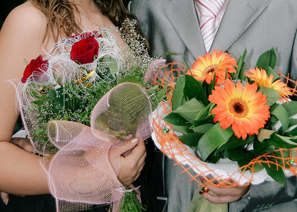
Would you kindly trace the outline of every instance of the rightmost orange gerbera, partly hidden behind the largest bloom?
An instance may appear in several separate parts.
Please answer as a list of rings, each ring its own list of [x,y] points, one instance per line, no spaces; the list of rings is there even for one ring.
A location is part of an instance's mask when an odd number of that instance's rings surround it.
[[[267,88],[272,88],[276,90],[281,98],[279,99],[281,102],[286,100],[288,102],[289,95],[292,95],[290,88],[286,86],[286,83],[283,83],[281,79],[273,81],[273,75],[267,75],[267,72],[264,69],[250,69],[248,72],[245,73],[245,76],[248,76],[252,81],[255,81],[257,85]]]

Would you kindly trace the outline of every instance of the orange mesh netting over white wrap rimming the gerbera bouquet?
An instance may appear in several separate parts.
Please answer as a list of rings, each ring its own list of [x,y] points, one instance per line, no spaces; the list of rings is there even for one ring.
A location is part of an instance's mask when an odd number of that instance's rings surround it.
[[[175,165],[180,165],[183,172],[187,172],[191,179],[196,181],[201,186],[207,187],[236,187],[239,184],[246,184],[252,182],[257,184],[263,182],[267,177],[265,170],[255,172],[255,165],[267,164],[274,169],[284,169],[286,175],[296,174],[297,163],[297,148],[284,149],[279,148],[272,153],[266,153],[252,160],[248,165],[238,167],[236,162],[229,159],[221,159],[219,163],[206,163],[194,153],[192,148],[185,146],[178,138],[175,132],[173,132],[172,126],[163,120],[167,114],[172,110],[170,108],[170,102],[172,98],[173,89],[175,87],[175,81],[180,74],[184,74],[187,67],[180,63],[165,64],[163,69],[156,75],[155,83],[161,86],[167,86],[166,92],[167,102],[161,102],[159,107],[151,116],[151,125],[153,127],[152,138],[156,143],[156,146],[161,151],[175,160]],[[286,83],[295,83],[289,79],[289,76],[282,76],[286,78]],[[297,95],[296,86],[291,88],[293,95]],[[168,132],[164,132],[164,129],[169,129]],[[289,153],[289,154],[288,154]],[[289,155],[286,157],[284,155]],[[275,161],[275,162],[273,162]],[[191,171],[190,171],[191,170]],[[194,172],[192,171],[194,170]],[[199,176],[209,176],[208,182],[202,184],[199,180]],[[210,179],[211,178],[211,179]]]

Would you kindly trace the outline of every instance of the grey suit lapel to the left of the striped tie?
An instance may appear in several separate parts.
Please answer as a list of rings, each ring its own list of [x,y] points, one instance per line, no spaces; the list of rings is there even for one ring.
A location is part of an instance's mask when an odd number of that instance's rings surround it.
[[[171,0],[165,14],[194,59],[206,54],[193,0]]]

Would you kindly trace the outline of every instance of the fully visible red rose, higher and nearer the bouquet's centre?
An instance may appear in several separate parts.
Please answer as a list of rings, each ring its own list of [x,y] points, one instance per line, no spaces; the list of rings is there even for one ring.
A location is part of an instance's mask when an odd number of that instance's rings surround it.
[[[77,64],[89,64],[98,54],[99,44],[94,37],[86,37],[72,46],[70,58]]]

